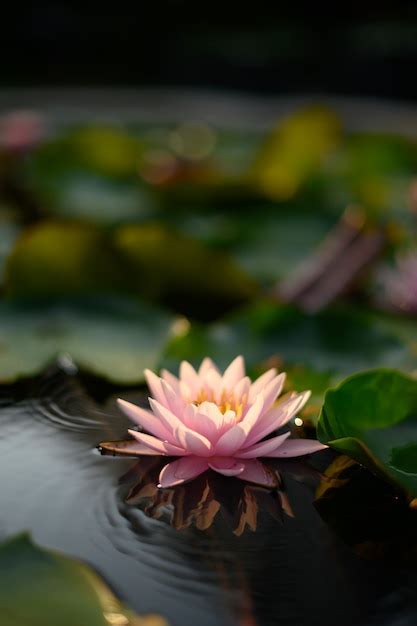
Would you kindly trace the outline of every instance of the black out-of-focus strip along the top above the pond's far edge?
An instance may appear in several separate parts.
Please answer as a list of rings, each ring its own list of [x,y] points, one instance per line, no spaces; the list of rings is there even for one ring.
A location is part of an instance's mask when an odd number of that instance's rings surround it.
[[[417,6],[168,1],[8,8],[3,85],[180,85],[415,99]]]

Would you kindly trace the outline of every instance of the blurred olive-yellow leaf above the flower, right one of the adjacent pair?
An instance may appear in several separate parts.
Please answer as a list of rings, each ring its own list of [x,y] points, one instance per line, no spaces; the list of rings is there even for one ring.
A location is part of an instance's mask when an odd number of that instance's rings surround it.
[[[140,293],[181,313],[207,319],[256,293],[227,254],[160,225],[121,227],[114,241]]]

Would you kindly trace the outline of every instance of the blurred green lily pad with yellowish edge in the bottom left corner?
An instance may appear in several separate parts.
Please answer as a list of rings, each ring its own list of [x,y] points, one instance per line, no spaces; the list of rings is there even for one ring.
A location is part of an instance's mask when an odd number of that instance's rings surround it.
[[[162,626],[133,614],[79,561],[43,550],[19,535],[0,546],[2,626]]]

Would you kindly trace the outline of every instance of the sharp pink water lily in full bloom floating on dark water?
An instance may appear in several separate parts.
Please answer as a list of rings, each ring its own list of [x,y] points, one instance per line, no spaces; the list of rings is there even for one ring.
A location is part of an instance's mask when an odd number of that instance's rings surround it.
[[[290,432],[268,437],[284,426],[307,402],[310,392],[291,394],[280,402],[285,374],[270,369],[254,383],[238,356],[222,375],[211,359],[198,372],[183,361],[177,378],[166,370],[159,378],[145,371],[152,394],[151,411],[119,400],[120,407],[147,433],[129,430],[135,439],[125,448],[134,455],[178,456],[159,475],[171,487],[207,469],[270,486],[258,457],[302,456],[326,446],[309,439],[289,439]]]

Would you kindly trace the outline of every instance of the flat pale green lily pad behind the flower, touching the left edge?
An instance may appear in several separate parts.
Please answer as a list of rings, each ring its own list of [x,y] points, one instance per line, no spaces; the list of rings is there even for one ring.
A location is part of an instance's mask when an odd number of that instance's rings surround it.
[[[127,298],[0,302],[0,381],[32,376],[68,354],[108,380],[139,383],[144,368],[160,360],[171,329],[168,314]]]

